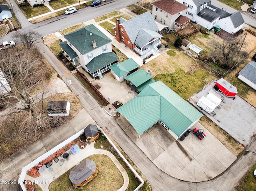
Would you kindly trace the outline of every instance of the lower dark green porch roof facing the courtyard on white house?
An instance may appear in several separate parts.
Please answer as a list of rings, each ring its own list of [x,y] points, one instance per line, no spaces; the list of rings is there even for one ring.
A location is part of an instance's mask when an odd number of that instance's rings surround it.
[[[94,73],[95,71],[103,68],[104,66],[106,66],[114,61],[117,61],[118,59],[119,59],[119,57],[113,52],[102,53],[102,54],[94,57],[94,59],[92,59],[86,65],[86,67],[88,68],[88,70],[90,70],[92,73]]]

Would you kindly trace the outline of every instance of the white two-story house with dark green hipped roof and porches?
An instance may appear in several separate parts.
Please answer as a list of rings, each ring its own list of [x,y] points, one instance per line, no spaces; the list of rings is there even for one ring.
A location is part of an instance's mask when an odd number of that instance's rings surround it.
[[[110,70],[119,57],[112,52],[111,39],[93,24],[64,35],[60,43],[62,53],[78,67],[83,67],[92,77]]]

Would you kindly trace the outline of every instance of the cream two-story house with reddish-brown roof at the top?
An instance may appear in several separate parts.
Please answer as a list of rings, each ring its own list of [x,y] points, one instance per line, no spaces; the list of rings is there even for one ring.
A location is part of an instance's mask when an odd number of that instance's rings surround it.
[[[171,30],[182,29],[189,24],[190,18],[185,16],[188,7],[184,4],[176,0],[158,0],[151,4],[153,18],[164,23]]]

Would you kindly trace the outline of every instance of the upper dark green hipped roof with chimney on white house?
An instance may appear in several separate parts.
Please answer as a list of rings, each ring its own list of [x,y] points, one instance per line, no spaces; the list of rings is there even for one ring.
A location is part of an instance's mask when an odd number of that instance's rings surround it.
[[[101,47],[112,41],[104,33],[98,30],[98,28],[96,28],[96,26],[94,26],[93,24],[80,28],[74,32],[68,33],[64,35],[64,37],[82,55],[95,49],[92,46],[92,41],[96,41],[97,47]]]

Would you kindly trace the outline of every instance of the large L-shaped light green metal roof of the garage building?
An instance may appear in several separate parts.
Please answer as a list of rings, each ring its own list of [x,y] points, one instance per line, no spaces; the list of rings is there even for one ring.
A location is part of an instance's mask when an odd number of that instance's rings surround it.
[[[162,81],[146,86],[117,111],[132,124],[139,135],[161,120],[179,137],[202,117],[198,110]]]

